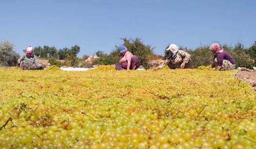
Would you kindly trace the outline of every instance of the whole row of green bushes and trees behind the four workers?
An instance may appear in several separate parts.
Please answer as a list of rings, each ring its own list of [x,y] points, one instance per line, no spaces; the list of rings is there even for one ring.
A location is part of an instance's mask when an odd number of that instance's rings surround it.
[[[121,38],[123,45],[125,45],[133,55],[138,56],[141,65],[148,69],[150,68],[150,60],[158,59],[159,56],[154,54],[154,48],[150,45],[144,44],[140,38],[127,39]],[[236,67],[252,68],[256,66],[256,42],[250,48],[244,48],[240,43],[235,46],[222,45],[224,50],[231,53],[236,61]],[[13,50],[14,44],[9,41],[0,42],[0,65],[1,66],[15,66],[19,54]],[[168,46],[167,46],[168,47]],[[209,50],[209,45],[202,45],[196,49],[188,49],[180,47],[181,50],[187,51],[191,55],[191,61],[193,68],[204,65],[211,65],[213,63],[213,53]],[[164,49],[165,51],[165,49]],[[120,58],[119,46],[115,46],[114,50],[109,54],[103,51],[97,51],[95,53],[99,59],[93,61],[93,63],[83,63],[89,55],[83,55],[82,58],[78,58],[77,54],[80,52],[78,45],[71,48],[62,48],[57,50],[54,46],[37,46],[34,48],[34,54],[39,59],[49,59],[51,65],[56,66],[74,66],[77,67],[79,63],[82,63],[84,67],[91,67],[92,65],[113,65],[117,64]],[[167,53],[163,59],[165,59]],[[161,56],[160,56],[161,57]],[[152,59],[153,58],[153,59]],[[63,60],[65,62],[60,62]]]

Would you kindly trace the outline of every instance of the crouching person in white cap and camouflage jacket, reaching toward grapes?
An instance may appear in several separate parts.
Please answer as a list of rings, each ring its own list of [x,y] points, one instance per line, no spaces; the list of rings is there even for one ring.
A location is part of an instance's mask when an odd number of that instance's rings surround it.
[[[155,67],[154,70],[159,70],[164,66],[168,65],[170,69],[176,68],[190,68],[190,54],[182,51],[177,45],[171,44],[169,48],[166,49],[169,52],[168,58],[161,63],[160,66]]]

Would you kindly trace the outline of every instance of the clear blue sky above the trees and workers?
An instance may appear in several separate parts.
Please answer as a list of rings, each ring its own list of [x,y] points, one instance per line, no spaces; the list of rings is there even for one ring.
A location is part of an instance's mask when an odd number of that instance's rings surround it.
[[[121,37],[142,38],[155,53],[169,43],[249,47],[256,40],[255,0],[1,0],[0,20],[0,41],[13,41],[18,53],[76,44],[79,57],[109,53]]]

